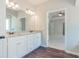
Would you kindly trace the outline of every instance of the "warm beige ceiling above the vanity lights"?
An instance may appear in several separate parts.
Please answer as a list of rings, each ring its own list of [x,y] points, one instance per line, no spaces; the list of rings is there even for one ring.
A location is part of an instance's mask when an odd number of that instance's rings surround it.
[[[9,0],[11,2],[19,2],[20,4],[24,4],[24,5],[31,5],[31,6],[37,6],[40,5],[42,3],[47,2],[48,0]]]

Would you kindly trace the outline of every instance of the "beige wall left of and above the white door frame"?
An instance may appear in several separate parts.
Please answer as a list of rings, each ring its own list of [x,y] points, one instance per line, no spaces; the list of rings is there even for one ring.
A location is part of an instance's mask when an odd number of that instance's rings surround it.
[[[41,4],[37,7],[37,14],[39,15],[39,20],[41,21],[41,30],[43,31],[43,39],[42,39],[42,46],[47,45],[47,38],[48,38],[48,30],[47,30],[47,13],[49,11],[60,11],[65,8],[70,8],[74,6],[74,4],[70,4],[64,0],[50,0],[44,4]]]

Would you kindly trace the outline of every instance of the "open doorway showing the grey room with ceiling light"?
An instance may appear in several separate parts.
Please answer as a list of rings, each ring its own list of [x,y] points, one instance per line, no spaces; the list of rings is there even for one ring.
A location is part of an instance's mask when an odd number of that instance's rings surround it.
[[[65,49],[65,11],[50,12],[48,14],[48,47]]]

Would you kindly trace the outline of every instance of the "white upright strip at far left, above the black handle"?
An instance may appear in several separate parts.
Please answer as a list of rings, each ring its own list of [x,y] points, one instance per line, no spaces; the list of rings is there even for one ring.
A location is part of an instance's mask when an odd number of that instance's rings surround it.
[[[0,36],[5,35],[5,14],[6,5],[5,0],[0,0]]]

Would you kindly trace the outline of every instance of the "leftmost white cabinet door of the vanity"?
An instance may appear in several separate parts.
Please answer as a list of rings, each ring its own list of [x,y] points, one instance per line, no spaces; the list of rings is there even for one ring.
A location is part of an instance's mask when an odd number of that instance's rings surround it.
[[[8,38],[8,58],[16,57],[16,38]]]

